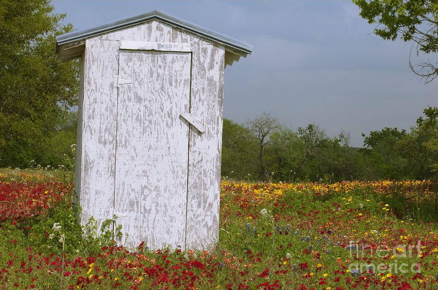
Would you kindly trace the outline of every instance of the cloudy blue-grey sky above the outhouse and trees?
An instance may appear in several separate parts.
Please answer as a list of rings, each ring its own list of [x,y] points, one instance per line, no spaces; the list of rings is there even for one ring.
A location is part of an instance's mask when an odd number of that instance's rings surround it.
[[[293,129],[349,132],[350,145],[361,147],[362,133],[409,129],[425,107],[438,106],[438,80],[424,85],[408,67],[411,44],[372,34],[351,0],[52,4],[76,30],[160,10],[253,45],[225,69],[223,114],[238,123],[266,111]]]

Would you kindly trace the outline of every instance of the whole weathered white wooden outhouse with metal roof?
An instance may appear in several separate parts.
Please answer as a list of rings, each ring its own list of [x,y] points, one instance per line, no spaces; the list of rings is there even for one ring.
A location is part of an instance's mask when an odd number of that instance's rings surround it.
[[[81,223],[116,215],[130,249],[217,241],[223,72],[252,47],[160,11],[56,41],[81,60]]]

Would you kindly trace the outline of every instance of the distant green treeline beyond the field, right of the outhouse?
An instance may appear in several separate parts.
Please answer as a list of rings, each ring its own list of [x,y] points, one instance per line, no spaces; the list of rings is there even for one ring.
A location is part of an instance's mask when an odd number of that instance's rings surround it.
[[[409,133],[383,128],[349,147],[349,135],[329,137],[309,124],[296,130],[262,114],[244,124],[223,121],[224,177],[249,181],[429,179],[438,170],[438,108],[428,107]]]

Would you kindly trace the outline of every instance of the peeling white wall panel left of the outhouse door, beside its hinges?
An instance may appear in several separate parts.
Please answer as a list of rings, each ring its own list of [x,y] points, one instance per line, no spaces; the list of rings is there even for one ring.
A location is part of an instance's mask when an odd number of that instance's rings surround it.
[[[114,157],[118,72],[118,41],[87,39],[82,107],[82,185],[85,224],[90,216],[98,227],[110,216],[114,200]]]

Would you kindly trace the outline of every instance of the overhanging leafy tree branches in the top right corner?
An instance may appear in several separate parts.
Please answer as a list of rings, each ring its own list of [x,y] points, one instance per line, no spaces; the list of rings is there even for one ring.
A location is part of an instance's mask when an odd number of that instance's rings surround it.
[[[433,0],[353,0],[360,16],[378,23],[374,33],[384,40],[412,41],[416,54],[438,52],[438,2]],[[415,48],[414,48],[415,47]],[[412,50],[411,50],[412,53]],[[425,61],[409,65],[426,83],[438,76],[438,63]]]

